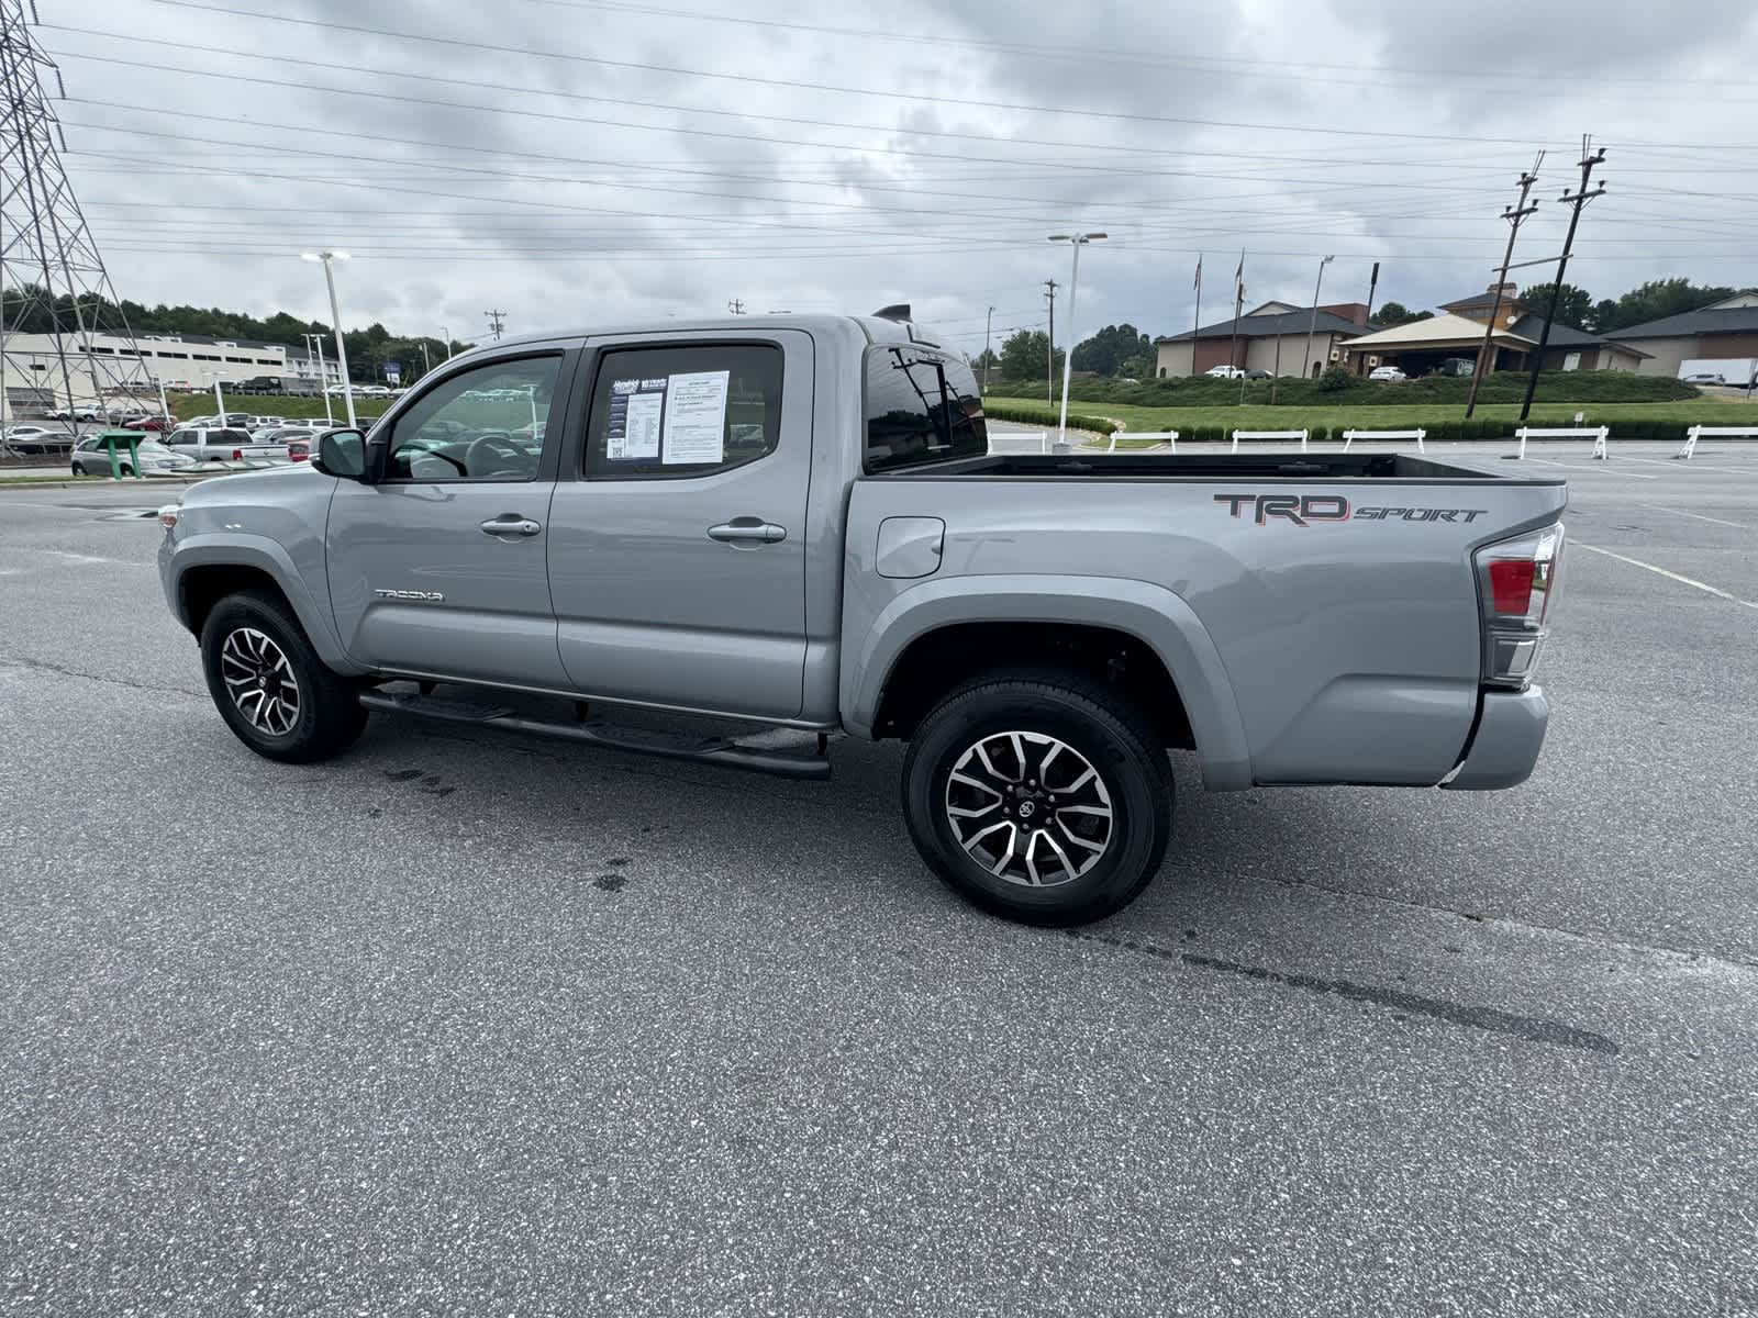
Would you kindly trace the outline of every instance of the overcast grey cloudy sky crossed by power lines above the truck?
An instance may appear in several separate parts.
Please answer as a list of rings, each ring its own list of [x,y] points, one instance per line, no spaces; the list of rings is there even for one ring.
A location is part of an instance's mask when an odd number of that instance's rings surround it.
[[[67,167],[118,292],[392,332],[870,311],[983,346],[1069,281],[1076,330],[1412,308],[1554,255],[1580,135],[1609,193],[1570,281],[1758,285],[1758,7],[1635,0],[39,0]],[[1522,281],[1549,278],[1544,269]],[[1058,292],[1058,341],[1067,290]]]

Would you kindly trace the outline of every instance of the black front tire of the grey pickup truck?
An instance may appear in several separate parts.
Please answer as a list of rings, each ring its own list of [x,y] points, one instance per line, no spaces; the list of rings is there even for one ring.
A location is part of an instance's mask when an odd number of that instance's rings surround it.
[[[234,648],[227,650],[234,636]],[[255,640],[258,636],[267,638],[269,645],[262,647]],[[267,691],[276,699],[271,701],[269,694],[253,699],[255,691],[250,689],[241,699],[234,699],[229,677],[237,680],[239,673],[248,671],[243,661],[258,652],[265,655],[262,668],[274,670],[274,685]],[[285,671],[280,661],[285,661]],[[202,671],[207,675],[207,694],[227,728],[267,759],[288,764],[331,759],[353,745],[366,728],[359,684],[331,671],[311,648],[287,603],[264,590],[243,590],[214,605],[202,624]],[[281,699],[288,677],[294,684],[292,713],[287,713],[288,701]],[[253,722],[244,706],[258,715],[272,706],[272,713]]]

